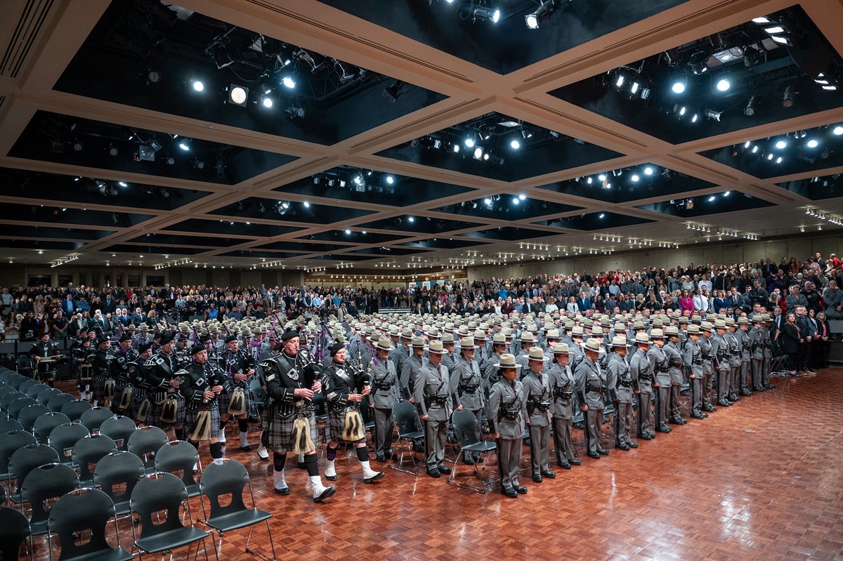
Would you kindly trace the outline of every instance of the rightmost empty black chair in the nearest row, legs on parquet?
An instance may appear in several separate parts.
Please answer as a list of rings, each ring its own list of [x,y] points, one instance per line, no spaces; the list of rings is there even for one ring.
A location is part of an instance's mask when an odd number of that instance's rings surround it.
[[[248,485],[249,496],[252,507],[245,505],[243,491]],[[272,541],[272,531],[269,526],[269,519],[272,515],[264,510],[258,510],[255,505],[255,494],[252,492],[252,484],[249,472],[243,464],[227,457],[214,460],[207,465],[202,472],[200,483],[201,494],[208,498],[211,504],[211,516],[206,516],[206,524],[219,532],[222,542],[223,533],[231,532],[246,526],[253,526],[259,522],[266,522],[266,532],[269,534],[269,543],[272,548],[272,558],[275,556],[275,543]],[[228,505],[220,504],[220,496],[231,495]],[[204,508],[204,503],[202,507]],[[249,540],[252,537],[252,529],[249,529],[249,537],[246,537],[245,550],[252,553],[249,548]]]

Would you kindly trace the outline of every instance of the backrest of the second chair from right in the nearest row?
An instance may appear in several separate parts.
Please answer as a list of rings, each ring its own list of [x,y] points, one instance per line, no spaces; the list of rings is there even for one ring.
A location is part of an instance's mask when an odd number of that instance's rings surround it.
[[[185,527],[181,524],[179,510],[186,498],[185,484],[172,473],[153,473],[138,481],[132,491],[132,510],[141,519],[141,537]],[[162,510],[167,511],[164,521],[158,516],[158,524],[153,523],[153,513],[160,515]]]

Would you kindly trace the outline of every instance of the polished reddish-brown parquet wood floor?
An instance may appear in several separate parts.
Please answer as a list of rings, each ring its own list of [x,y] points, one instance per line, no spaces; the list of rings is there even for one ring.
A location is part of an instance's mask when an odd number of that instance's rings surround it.
[[[517,500],[497,485],[477,494],[423,470],[387,470],[366,485],[356,457],[341,453],[336,495],[314,505],[295,462],[282,497],[270,462],[229,455],[249,468],[257,506],[275,514],[279,559],[843,559],[843,369],[771,380],[776,389],[637,450],[600,460],[581,452],[582,466],[542,484],[523,472],[529,494]],[[243,553],[247,532],[227,534],[220,558],[254,558]],[[129,546],[131,532],[121,535]],[[251,547],[270,553],[266,526],[255,526]]]

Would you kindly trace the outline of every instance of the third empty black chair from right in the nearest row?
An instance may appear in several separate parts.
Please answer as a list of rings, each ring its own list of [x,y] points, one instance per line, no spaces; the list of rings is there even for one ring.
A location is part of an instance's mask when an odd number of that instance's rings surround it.
[[[56,501],[50,510],[50,533],[62,542],[58,561],[130,561],[132,553],[120,547],[120,532],[114,521],[117,547],[105,539],[108,521],[115,516],[114,503],[99,489],[78,489]],[[88,535],[82,545],[77,536]],[[52,559],[52,548],[50,548]]]

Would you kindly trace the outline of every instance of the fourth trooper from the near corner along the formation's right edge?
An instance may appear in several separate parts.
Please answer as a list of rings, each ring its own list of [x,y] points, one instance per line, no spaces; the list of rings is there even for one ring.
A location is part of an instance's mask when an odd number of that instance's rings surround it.
[[[588,457],[597,459],[601,454],[609,454],[609,451],[603,446],[603,438],[600,434],[600,425],[603,424],[603,411],[606,407],[606,379],[597,362],[600,355],[599,341],[589,338],[583,345],[583,353],[585,357],[577,365],[574,377],[577,380],[580,409],[585,412],[585,430],[583,432]]]

